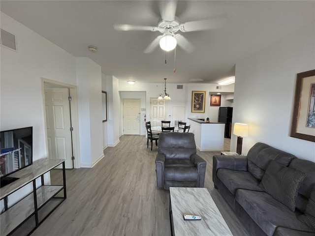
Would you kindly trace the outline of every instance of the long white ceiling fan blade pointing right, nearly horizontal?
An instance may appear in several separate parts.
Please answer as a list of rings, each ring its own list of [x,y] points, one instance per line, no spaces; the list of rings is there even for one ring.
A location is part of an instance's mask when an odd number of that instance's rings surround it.
[[[207,29],[218,29],[222,27],[224,19],[205,19],[200,21],[189,21],[179,26],[182,32],[201,31]]]

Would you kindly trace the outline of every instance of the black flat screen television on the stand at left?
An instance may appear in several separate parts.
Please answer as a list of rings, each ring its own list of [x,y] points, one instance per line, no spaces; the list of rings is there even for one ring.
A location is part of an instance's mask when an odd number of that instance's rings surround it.
[[[8,177],[32,165],[33,127],[0,131],[0,187],[18,178]]]

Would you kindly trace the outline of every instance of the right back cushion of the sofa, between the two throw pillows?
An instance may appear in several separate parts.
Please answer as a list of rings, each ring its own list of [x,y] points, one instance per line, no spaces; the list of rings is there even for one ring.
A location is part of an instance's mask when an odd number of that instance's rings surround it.
[[[296,198],[296,208],[304,212],[306,205],[308,204],[311,192],[315,186],[315,163],[303,159],[294,159],[291,161],[290,168],[301,171],[306,174]]]

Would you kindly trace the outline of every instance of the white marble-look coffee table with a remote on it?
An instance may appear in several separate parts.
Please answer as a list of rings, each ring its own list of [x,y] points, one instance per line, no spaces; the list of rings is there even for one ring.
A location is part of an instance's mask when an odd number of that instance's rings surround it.
[[[206,188],[170,187],[169,193],[172,235],[232,236]],[[185,221],[184,214],[201,216],[201,220]]]

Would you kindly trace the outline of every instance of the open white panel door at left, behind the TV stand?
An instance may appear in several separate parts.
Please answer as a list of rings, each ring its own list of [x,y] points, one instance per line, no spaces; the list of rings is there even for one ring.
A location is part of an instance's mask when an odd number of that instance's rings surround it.
[[[48,155],[66,159],[65,168],[73,168],[69,91],[65,88],[45,89],[45,111]]]

